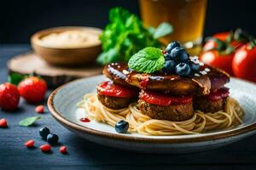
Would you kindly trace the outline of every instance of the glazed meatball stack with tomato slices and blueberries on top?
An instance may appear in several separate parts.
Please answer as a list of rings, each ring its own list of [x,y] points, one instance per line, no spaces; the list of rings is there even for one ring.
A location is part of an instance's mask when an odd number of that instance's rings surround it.
[[[125,63],[106,65],[103,74],[112,82],[97,87],[98,99],[110,109],[137,101],[144,115],[168,121],[188,120],[195,110],[215,112],[224,108],[229,96],[229,89],[224,88],[230,81],[227,73],[189,56],[178,42],[170,43],[163,54],[166,63],[153,74],[132,71]],[[122,95],[102,93],[106,92],[106,83],[112,92],[118,89]]]

